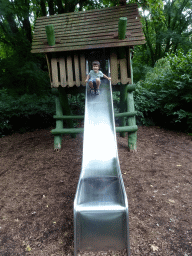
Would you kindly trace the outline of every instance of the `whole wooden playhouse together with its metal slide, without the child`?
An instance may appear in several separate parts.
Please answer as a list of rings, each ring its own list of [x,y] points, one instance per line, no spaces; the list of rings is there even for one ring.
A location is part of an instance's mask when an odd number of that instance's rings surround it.
[[[74,12],[37,19],[32,52],[45,53],[50,83],[56,99],[54,148],[62,134],[84,132],[83,159],[73,205],[74,256],[79,251],[127,250],[128,200],[117,153],[116,132],[128,132],[128,149],[136,151],[137,125],[131,66],[131,49],[143,44],[137,5]],[[111,82],[101,84],[93,97],[86,73],[99,60]],[[121,118],[115,127],[112,90],[120,91]],[[85,92],[85,115],[71,115],[67,94]],[[125,118],[127,117],[127,119]],[[73,128],[72,119],[84,118],[84,128]],[[68,119],[70,128],[63,127]],[[94,136],[93,136],[94,135]]]

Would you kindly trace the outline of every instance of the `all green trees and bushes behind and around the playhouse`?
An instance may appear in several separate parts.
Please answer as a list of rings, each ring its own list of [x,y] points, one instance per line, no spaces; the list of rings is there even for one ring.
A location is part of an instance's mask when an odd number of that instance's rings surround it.
[[[0,0],[0,135],[54,125],[44,55],[31,54],[39,16],[119,5],[124,0]],[[192,0],[137,3],[146,44],[134,48],[138,122],[192,131]],[[115,96],[118,108],[118,95]],[[83,110],[83,95],[70,98]]]

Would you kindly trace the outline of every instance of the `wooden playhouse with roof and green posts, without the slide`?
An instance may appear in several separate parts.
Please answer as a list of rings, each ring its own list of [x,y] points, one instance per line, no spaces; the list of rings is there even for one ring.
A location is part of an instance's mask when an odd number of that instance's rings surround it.
[[[125,18],[125,33],[119,37],[119,21]],[[48,30],[52,29],[53,40],[48,40]],[[35,24],[32,53],[45,53],[50,83],[56,95],[56,129],[54,148],[61,148],[61,134],[83,132],[73,128],[67,94],[85,91],[86,60],[99,60],[103,73],[107,72],[110,60],[113,90],[121,93],[121,127],[117,131],[130,131],[128,126],[136,125],[132,92],[131,50],[134,45],[145,43],[142,25],[136,4],[39,17]],[[128,113],[129,112],[129,113]],[[124,115],[123,115],[124,113]],[[132,113],[132,114],[131,114]],[[69,120],[69,129],[63,128],[63,120]],[[132,137],[132,139],[131,139]],[[135,138],[134,138],[135,137]],[[130,132],[128,148],[136,149],[136,132]],[[134,142],[133,142],[134,141]]]

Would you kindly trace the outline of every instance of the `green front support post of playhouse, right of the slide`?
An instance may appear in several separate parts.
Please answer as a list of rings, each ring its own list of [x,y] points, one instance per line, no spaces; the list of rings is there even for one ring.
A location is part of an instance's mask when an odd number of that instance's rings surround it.
[[[132,71],[132,64],[131,64],[131,51],[129,50],[129,56],[130,56],[130,67],[131,67],[131,81],[132,85],[128,86],[128,96],[127,96],[127,111],[133,112],[135,111],[134,106],[134,98],[133,98],[133,71]],[[129,117],[128,118],[128,126],[134,126],[136,125],[136,117]],[[128,132],[128,150],[130,152],[136,152],[137,151],[137,132]]]

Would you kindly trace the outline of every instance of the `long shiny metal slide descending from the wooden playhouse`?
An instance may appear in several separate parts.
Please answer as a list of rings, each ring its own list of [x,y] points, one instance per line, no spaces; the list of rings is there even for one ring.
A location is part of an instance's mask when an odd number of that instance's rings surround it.
[[[86,87],[83,161],[74,200],[74,255],[127,248],[128,201],[117,152],[111,83]]]

